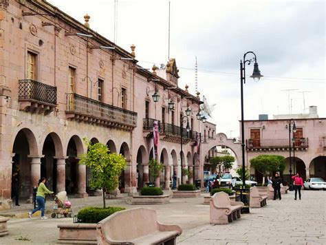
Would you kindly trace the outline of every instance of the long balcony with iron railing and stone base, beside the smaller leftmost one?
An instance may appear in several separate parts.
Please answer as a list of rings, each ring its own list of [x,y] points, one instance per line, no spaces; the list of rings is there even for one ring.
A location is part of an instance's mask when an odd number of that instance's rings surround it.
[[[83,121],[114,127],[122,130],[132,130],[137,126],[137,113],[102,103],[78,94],[67,94],[66,117],[70,120]]]

